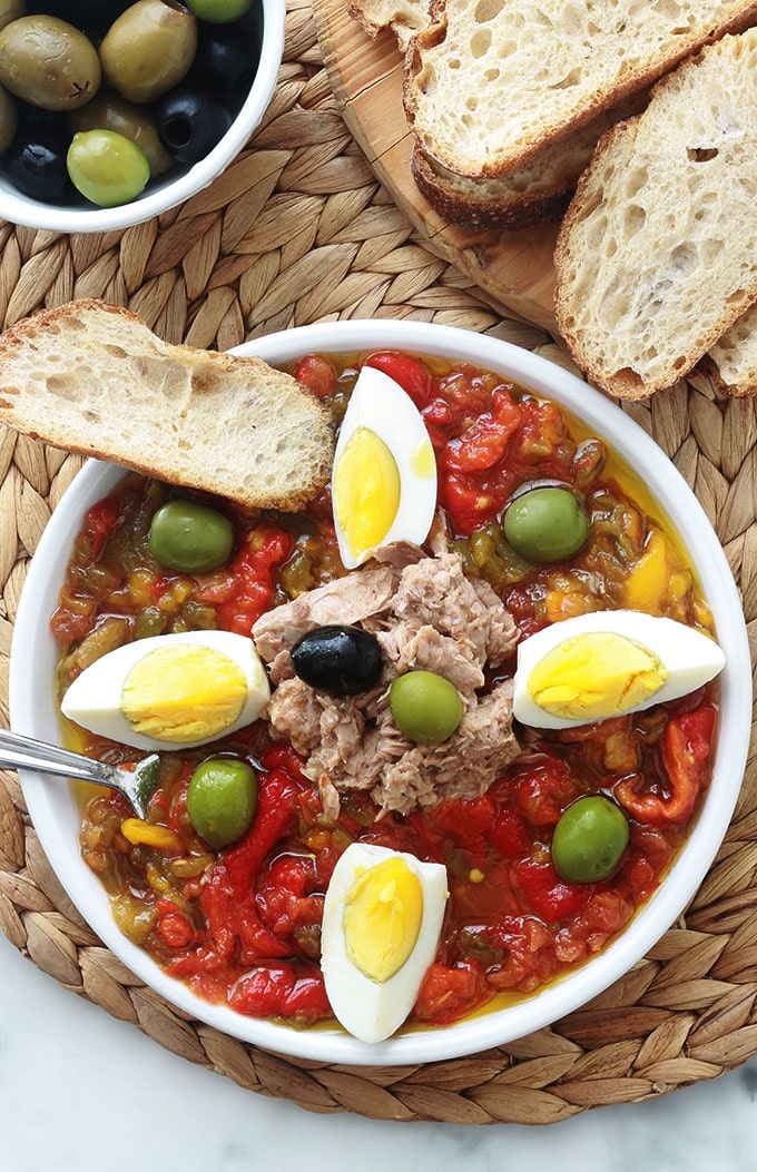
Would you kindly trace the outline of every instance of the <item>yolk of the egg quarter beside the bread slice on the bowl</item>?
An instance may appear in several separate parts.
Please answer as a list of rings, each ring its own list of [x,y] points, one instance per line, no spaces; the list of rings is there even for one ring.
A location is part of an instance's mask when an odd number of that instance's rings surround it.
[[[334,512],[353,557],[381,545],[400,506],[394,456],[370,428],[357,428],[334,471]]]

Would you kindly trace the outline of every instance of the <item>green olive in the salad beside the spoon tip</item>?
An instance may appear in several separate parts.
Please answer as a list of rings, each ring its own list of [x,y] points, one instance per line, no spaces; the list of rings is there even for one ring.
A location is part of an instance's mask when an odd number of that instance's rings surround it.
[[[258,776],[246,761],[211,757],[197,766],[186,790],[192,826],[214,851],[250,830],[258,809]]]

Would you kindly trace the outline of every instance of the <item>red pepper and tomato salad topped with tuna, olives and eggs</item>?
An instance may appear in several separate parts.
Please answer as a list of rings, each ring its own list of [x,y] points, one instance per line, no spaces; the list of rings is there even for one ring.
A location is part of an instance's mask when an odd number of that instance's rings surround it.
[[[421,440],[403,447],[410,422],[376,440],[362,415],[341,478],[306,512],[136,475],[89,510],[52,619],[57,686],[66,709],[118,648],[206,633],[211,657],[176,667],[180,683],[162,688],[172,668],[155,661],[152,699],[139,679],[116,689],[118,720],[161,750],[149,818],[82,791],[83,858],[165,972],[240,1014],[332,1020],[342,962],[369,988],[404,970],[432,881],[431,945],[397,996],[401,1017],[444,1026],[580,966],[663,880],[710,781],[717,665],[697,665],[716,645],[676,534],[577,420],[493,373],[409,354],[308,355],[293,373],[341,427],[366,369],[401,390]],[[382,543],[405,506],[410,531]],[[628,614],[654,634],[636,639]],[[519,648],[525,662],[531,638],[564,629],[519,683]],[[251,718],[234,665],[213,694],[219,632],[261,656]],[[179,693],[205,721],[189,747]],[[144,748],[122,727],[88,731],[74,713],[66,735],[128,763]],[[333,928],[325,904],[350,849],[380,849],[382,870],[369,881],[359,859]],[[415,860],[443,867],[442,886]]]

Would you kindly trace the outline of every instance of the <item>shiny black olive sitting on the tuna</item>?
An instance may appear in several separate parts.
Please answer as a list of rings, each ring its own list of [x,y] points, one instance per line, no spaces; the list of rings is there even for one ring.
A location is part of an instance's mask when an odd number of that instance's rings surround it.
[[[315,627],[292,648],[300,680],[329,696],[356,696],[378,682],[378,640],[361,627]]]

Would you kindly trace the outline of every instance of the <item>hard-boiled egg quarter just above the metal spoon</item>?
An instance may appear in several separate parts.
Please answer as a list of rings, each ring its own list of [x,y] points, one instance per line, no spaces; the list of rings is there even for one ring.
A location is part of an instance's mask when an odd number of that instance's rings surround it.
[[[270,694],[251,639],[193,631],[108,652],[73,681],[61,709],[91,732],[136,749],[187,749],[252,723]]]

